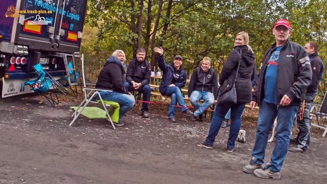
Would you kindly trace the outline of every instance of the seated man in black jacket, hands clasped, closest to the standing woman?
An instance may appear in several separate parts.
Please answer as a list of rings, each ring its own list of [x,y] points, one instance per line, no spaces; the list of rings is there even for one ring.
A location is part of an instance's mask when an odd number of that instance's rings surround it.
[[[191,75],[188,95],[192,106],[197,108],[191,116],[192,121],[195,121],[198,117],[200,121],[203,121],[202,113],[211,107],[213,103],[217,103],[217,73],[210,66],[211,59],[204,57],[201,66],[197,67]],[[199,103],[201,99],[204,100],[202,104]]]

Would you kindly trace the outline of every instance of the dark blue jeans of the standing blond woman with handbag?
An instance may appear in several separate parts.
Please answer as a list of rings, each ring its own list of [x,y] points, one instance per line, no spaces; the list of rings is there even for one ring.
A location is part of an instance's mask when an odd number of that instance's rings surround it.
[[[206,137],[206,142],[209,145],[213,145],[215,142],[215,138],[218,135],[219,129],[221,127],[221,123],[226,113],[230,109],[231,111],[231,121],[230,121],[230,129],[229,129],[229,138],[227,141],[227,147],[234,148],[235,141],[237,136],[239,135],[241,128],[241,115],[243,113],[245,107],[245,103],[236,103],[232,105],[226,106],[216,106],[214,117],[211,121],[209,134]]]

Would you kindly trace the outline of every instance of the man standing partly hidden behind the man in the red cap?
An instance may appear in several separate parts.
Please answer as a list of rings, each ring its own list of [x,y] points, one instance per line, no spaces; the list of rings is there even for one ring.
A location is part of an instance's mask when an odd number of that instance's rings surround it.
[[[295,147],[290,147],[288,150],[291,152],[303,153],[308,152],[308,146],[311,138],[311,123],[310,123],[310,110],[311,104],[316,96],[318,84],[321,81],[323,74],[323,63],[318,56],[318,44],[315,42],[307,42],[305,49],[309,55],[312,69],[312,82],[307,88],[307,96],[305,101],[305,109],[303,112],[298,111],[296,114],[297,125],[299,133],[295,140],[291,140],[297,144]],[[303,102],[301,103],[302,107]],[[299,114],[302,113],[303,119]]]

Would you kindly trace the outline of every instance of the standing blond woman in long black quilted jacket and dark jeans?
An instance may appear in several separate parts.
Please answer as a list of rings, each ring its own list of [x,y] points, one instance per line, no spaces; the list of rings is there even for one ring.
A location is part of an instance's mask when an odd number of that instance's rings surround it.
[[[201,143],[202,146],[212,149],[215,138],[221,127],[221,123],[229,108],[231,109],[231,122],[229,129],[229,138],[227,142],[227,151],[232,152],[235,147],[240,127],[241,115],[246,103],[252,99],[252,83],[255,75],[255,55],[249,44],[249,36],[246,32],[240,32],[236,35],[234,49],[230,52],[219,77],[220,90],[229,91],[235,81],[237,68],[241,61],[238,77],[235,82],[237,92],[237,103],[227,104],[225,106],[216,106],[214,117],[211,121],[209,134],[206,140]],[[241,56],[241,51],[242,56]],[[241,60],[240,60],[241,58]],[[221,92],[220,92],[221,93]],[[218,96],[219,100],[219,96]]]

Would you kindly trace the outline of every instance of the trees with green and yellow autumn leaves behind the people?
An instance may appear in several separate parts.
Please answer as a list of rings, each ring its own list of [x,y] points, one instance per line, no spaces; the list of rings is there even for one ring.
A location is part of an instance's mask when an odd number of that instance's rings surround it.
[[[138,47],[147,50],[151,68],[157,66],[153,48],[162,47],[166,62],[175,55],[183,57],[188,74],[200,66],[203,57],[212,59],[212,67],[219,74],[233,49],[235,35],[245,31],[259,71],[265,51],[275,41],[272,27],[283,18],[290,21],[291,41],[302,46],[307,41],[318,43],[326,68],[326,4],[327,0],[89,0],[81,54],[95,81],[114,50],[125,51],[127,66]],[[324,73],[319,95],[324,95],[326,85]]]

